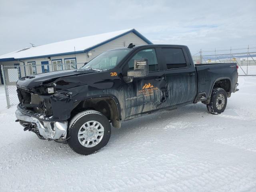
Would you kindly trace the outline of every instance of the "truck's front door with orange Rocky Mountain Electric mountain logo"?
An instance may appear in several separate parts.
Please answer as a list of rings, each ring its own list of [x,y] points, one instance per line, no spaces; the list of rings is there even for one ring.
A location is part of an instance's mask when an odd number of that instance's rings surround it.
[[[134,69],[134,60],[147,58],[149,73],[145,77],[134,78],[122,86],[125,100],[126,119],[136,114],[156,110],[165,100],[164,72],[160,71],[155,48],[138,50],[123,68],[123,74]]]

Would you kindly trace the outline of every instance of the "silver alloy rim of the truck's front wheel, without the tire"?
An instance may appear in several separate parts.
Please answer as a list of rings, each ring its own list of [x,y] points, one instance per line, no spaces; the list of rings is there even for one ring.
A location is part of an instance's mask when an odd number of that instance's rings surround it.
[[[104,127],[98,121],[84,123],[78,131],[78,140],[84,147],[94,147],[100,143],[104,135]]]

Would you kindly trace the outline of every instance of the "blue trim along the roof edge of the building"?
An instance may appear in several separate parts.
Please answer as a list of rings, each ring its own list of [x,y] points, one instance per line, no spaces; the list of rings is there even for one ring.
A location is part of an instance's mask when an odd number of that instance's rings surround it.
[[[98,45],[95,45],[95,46],[92,46],[92,47],[90,47],[90,48],[88,48],[88,49],[85,49],[85,50],[83,50],[83,51],[76,51],[76,52],[73,51],[73,52],[66,52],[66,53],[58,53],[58,54],[34,56],[34,57],[24,57],[24,58],[17,58],[17,59],[14,59],[14,58],[3,58],[3,59],[0,59],[0,61],[14,61],[14,60],[20,60],[20,59],[44,58],[44,57],[52,57],[52,56],[62,56],[62,55],[68,55],[68,54],[84,53],[84,52],[88,52],[88,51],[90,51],[90,50],[92,50],[92,49],[95,49],[95,48],[97,48],[97,47],[99,47],[99,46],[102,46],[102,45],[104,45],[104,44],[106,44],[106,43],[108,43],[108,42],[111,42],[111,41],[113,41],[113,40],[115,40],[115,39],[117,39],[117,38],[120,38],[120,37],[122,37],[122,36],[124,36],[124,35],[126,35],[126,34],[128,34],[128,33],[130,33],[130,32],[133,32],[133,33],[134,33],[135,35],[137,35],[139,38],[141,38],[142,40],[144,40],[147,44],[153,44],[150,40],[148,40],[146,37],[144,37],[142,34],[140,34],[137,30],[132,29],[132,30],[129,30],[129,31],[127,31],[127,32],[124,32],[123,34],[120,34],[120,35],[118,35],[118,36],[115,36],[114,38],[111,38],[111,39],[109,39],[109,40],[106,40],[106,41],[104,41],[104,42],[102,42],[102,43],[100,43],[100,44],[98,44]],[[12,60],[9,60],[9,59],[12,59]]]

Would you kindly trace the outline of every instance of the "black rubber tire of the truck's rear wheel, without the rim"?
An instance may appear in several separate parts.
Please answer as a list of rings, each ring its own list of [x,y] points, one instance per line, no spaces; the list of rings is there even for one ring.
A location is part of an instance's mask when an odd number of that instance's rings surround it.
[[[220,108],[218,109],[216,104],[217,102],[222,105],[223,102],[221,102],[221,100],[217,100],[218,96],[224,96],[224,100],[225,100],[225,103],[223,105],[223,107],[221,108],[221,106],[219,106]],[[220,103],[221,102],[221,103]],[[212,95],[211,95],[211,99],[210,99],[210,103],[207,104],[207,109],[208,111],[211,113],[211,114],[221,114],[222,112],[224,112],[225,108],[226,108],[226,105],[227,105],[227,93],[224,89],[222,88],[214,88],[212,90]]]

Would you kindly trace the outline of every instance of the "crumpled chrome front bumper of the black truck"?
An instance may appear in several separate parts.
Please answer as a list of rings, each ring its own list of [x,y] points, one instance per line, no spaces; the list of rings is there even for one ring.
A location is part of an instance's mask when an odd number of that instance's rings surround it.
[[[15,115],[20,123],[30,122],[32,125],[36,125],[40,136],[44,139],[65,140],[67,137],[68,121],[50,122],[39,120],[32,115],[22,113],[19,109],[16,110]]]

